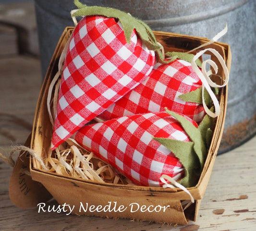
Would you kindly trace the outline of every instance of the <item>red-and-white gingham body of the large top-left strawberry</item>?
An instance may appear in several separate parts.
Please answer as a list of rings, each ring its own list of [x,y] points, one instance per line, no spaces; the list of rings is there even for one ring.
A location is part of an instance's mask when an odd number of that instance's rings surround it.
[[[154,64],[155,53],[135,31],[128,44],[120,22],[84,17],[65,58],[51,149],[143,81]]]

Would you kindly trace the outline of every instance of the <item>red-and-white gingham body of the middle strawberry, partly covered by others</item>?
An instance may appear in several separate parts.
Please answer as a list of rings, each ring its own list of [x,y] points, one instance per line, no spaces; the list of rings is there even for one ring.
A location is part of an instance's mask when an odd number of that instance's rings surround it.
[[[148,77],[98,117],[103,120],[122,116],[170,111],[183,114],[199,123],[205,115],[202,104],[184,102],[179,95],[195,91],[202,82],[191,63],[176,59],[169,64],[155,64]]]

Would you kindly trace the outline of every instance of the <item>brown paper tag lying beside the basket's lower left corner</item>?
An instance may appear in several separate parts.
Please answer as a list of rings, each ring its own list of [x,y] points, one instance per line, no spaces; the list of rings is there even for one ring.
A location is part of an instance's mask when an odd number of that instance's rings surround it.
[[[29,146],[31,135],[26,140],[24,146]],[[19,208],[33,208],[38,203],[46,202],[52,196],[46,188],[39,182],[33,181],[29,172],[29,153],[21,151],[12,170],[9,184],[9,196],[12,203]]]

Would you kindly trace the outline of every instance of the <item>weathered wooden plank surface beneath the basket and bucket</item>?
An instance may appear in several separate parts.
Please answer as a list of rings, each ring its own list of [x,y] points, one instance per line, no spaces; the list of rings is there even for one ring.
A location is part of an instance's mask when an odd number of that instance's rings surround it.
[[[0,58],[0,152],[23,144],[31,132],[41,86],[39,60]],[[256,137],[216,158],[195,222],[181,226],[129,219],[106,219],[16,208],[8,193],[12,173],[0,161],[0,230],[246,230],[256,229]],[[74,195],[75,196],[75,195]],[[48,204],[57,206],[55,200]]]

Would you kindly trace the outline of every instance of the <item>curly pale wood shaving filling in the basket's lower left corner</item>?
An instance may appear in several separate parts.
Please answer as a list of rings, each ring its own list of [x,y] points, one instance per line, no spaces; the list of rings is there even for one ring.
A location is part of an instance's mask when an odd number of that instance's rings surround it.
[[[45,160],[51,173],[82,178],[101,183],[130,185],[132,182],[117,172],[110,164],[100,160],[93,152],[68,139]]]

